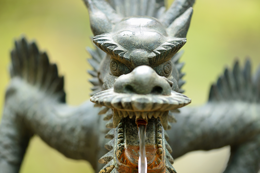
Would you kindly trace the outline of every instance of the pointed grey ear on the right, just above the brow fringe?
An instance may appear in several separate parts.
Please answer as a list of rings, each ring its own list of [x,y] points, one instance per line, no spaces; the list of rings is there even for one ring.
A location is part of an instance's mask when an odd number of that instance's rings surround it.
[[[167,28],[168,35],[185,38],[190,26],[192,12],[193,9],[190,7],[181,16],[176,18]]]

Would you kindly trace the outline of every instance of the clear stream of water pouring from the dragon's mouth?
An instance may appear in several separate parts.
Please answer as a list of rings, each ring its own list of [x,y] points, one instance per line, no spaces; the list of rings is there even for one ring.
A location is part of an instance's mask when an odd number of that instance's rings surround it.
[[[147,159],[145,153],[145,125],[138,126],[138,134],[140,141],[139,160],[138,160],[138,173],[147,173]]]

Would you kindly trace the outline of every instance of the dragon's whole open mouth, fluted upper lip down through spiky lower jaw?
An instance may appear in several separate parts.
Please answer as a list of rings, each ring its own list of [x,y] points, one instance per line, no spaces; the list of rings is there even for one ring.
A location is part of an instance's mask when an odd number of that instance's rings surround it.
[[[100,172],[104,173],[137,173],[139,158],[139,140],[136,121],[144,119],[147,122],[145,150],[147,156],[147,172],[171,172],[173,158],[172,149],[166,141],[163,130],[168,129],[168,113],[183,107],[191,99],[176,91],[169,95],[118,93],[110,88],[93,95],[90,100],[98,105],[113,109],[112,130],[106,135],[111,141],[106,148],[111,150],[100,158],[100,163],[107,163]],[[135,120],[133,117],[135,116]],[[159,118],[159,119],[158,119]],[[148,121],[149,119],[149,121]]]

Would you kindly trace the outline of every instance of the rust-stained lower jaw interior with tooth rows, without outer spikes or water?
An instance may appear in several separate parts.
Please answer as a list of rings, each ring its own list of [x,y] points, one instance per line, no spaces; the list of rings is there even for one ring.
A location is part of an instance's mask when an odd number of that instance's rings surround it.
[[[138,172],[139,140],[135,120],[124,118],[116,128],[114,157],[120,173]],[[160,120],[152,118],[146,127],[147,172],[166,172],[164,131]],[[167,158],[166,158],[167,159]]]

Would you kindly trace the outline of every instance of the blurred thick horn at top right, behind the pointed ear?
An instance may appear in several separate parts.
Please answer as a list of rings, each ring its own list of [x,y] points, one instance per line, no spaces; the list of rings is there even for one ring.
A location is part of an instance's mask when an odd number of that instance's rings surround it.
[[[195,0],[175,0],[171,7],[161,15],[160,22],[168,27],[173,20],[184,13],[188,8],[192,7]]]

